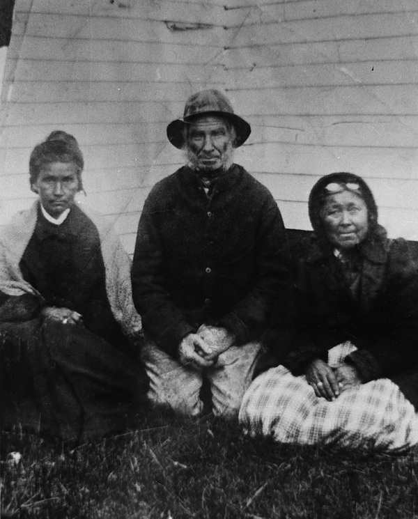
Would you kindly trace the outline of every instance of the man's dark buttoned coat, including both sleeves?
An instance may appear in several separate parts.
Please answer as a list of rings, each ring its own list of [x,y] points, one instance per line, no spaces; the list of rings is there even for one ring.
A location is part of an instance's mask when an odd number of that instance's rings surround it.
[[[184,166],[144,205],[134,304],[146,334],[171,355],[202,323],[226,327],[242,344],[260,336],[287,268],[284,224],[266,187],[235,164],[208,197]]]

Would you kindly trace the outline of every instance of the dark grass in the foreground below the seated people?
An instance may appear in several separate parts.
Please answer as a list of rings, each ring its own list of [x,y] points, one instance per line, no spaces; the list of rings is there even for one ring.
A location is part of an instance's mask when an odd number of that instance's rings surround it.
[[[286,447],[213,417],[78,446],[15,430],[1,451],[1,518],[418,518],[417,450]]]

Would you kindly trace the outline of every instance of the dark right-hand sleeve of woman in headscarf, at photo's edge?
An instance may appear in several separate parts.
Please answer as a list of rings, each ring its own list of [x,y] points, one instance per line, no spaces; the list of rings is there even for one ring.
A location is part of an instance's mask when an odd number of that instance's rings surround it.
[[[418,272],[405,240],[392,243],[386,281],[371,315],[375,325],[346,357],[364,382],[395,375],[418,362]]]

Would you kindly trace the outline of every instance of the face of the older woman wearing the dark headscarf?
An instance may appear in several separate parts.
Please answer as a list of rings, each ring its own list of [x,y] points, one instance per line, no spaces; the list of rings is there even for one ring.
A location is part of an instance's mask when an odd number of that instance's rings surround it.
[[[327,238],[336,249],[352,249],[366,238],[369,231],[366,203],[350,191],[328,196],[320,215]]]

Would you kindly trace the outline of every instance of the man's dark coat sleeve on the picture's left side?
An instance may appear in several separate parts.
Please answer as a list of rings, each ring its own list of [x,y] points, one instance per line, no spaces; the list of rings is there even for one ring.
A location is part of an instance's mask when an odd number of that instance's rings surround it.
[[[132,296],[146,332],[160,348],[174,356],[181,339],[196,330],[187,323],[164,288],[166,263],[158,228],[159,210],[151,192],[139,220],[132,263]]]

